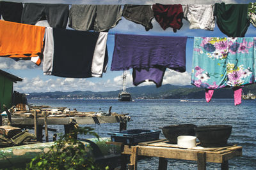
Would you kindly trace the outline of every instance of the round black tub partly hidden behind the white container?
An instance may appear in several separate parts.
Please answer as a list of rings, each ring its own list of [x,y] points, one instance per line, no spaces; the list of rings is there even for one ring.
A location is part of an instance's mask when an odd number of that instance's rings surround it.
[[[170,143],[177,144],[178,136],[195,136],[195,127],[196,125],[193,124],[177,124],[159,127],[159,129],[162,129],[164,137]]]

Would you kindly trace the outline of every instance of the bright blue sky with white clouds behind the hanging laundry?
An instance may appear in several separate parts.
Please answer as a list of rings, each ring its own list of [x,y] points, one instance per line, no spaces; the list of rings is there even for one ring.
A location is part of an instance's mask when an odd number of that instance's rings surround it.
[[[8,1],[8,0],[7,0]],[[12,0],[15,1],[15,0]],[[42,3],[42,1],[15,1],[19,3]],[[214,3],[244,3],[248,4],[255,1],[207,1],[207,0],[195,0],[195,1],[175,1],[175,0],[159,0],[159,1],[148,1],[148,0],[79,0],[79,1],[61,1],[61,0],[45,0],[44,3],[65,3],[65,4],[214,4]],[[3,18],[1,18],[3,20]],[[44,75],[43,64],[36,66],[33,62],[27,60],[20,60],[15,62],[10,58],[0,57],[0,69],[7,71],[8,73],[19,76],[23,81],[18,81],[14,84],[14,90],[18,92],[54,92],[63,91],[71,92],[75,90],[91,90],[93,92],[111,91],[111,90],[121,90],[122,89],[122,71],[110,71],[113,49],[115,46],[114,38],[115,33],[122,34],[142,34],[142,35],[160,35],[160,36],[188,36],[187,46],[186,46],[186,72],[179,73],[171,69],[166,69],[163,78],[163,85],[170,83],[172,85],[189,85],[191,81],[191,66],[192,66],[192,56],[193,56],[193,37],[195,36],[213,36],[213,37],[227,37],[223,34],[218,25],[215,26],[214,31],[205,31],[201,29],[189,29],[189,22],[187,20],[182,20],[183,25],[180,30],[173,32],[172,28],[168,28],[165,31],[160,27],[160,25],[153,18],[152,24],[153,29],[150,31],[145,31],[145,27],[140,24],[135,24],[129,20],[122,17],[122,20],[118,22],[116,27],[109,30],[108,35],[108,69],[106,73],[103,74],[102,78],[61,78],[58,76]],[[70,28],[68,28],[70,29]],[[256,36],[256,28],[250,25],[248,31],[246,32],[246,37]],[[127,86],[134,87],[132,85],[132,69],[127,71]],[[152,82],[141,83],[139,86],[143,85],[155,85]],[[161,88],[161,87],[159,87]]]

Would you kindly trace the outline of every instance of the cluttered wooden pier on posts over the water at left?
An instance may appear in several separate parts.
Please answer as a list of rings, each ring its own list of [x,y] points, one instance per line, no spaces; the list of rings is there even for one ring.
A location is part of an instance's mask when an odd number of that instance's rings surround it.
[[[48,107],[48,106],[47,106]],[[52,114],[51,110],[58,110]],[[68,111],[65,108],[40,108],[31,111],[17,111],[3,118],[3,124],[11,122],[13,127],[26,129],[35,129],[37,141],[42,141],[43,129],[45,129],[45,139],[48,141],[48,131],[56,131],[47,128],[47,125],[64,125],[65,133],[70,132],[76,125],[92,125],[92,124],[115,124],[119,123],[119,130],[123,131],[127,128],[127,122],[130,117],[127,114],[111,113],[109,108],[108,115],[97,112],[79,112]]]

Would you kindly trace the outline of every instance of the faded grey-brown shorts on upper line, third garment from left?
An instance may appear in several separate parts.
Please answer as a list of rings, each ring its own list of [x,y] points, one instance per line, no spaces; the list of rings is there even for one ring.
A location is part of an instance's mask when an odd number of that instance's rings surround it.
[[[79,31],[108,31],[122,18],[121,5],[72,4],[69,27]]]

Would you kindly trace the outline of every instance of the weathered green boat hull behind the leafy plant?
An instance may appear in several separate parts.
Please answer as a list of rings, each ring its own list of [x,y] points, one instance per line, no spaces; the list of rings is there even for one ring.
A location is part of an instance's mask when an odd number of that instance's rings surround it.
[[[110,138],[98,139],[81,139],[84,146],[91,146],[90,153],[92,153],[95,161],[104,166],[109,166],[110,169],[119,166],[121,156],[121,146],[108,144]],[[36,155],[47,153],[54,142],[36,143],[32,145],[13,146],[8,148],[1,148],[0,150],[0,165],[1,169],[11,167],[25,167]]]

